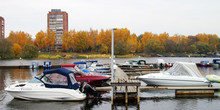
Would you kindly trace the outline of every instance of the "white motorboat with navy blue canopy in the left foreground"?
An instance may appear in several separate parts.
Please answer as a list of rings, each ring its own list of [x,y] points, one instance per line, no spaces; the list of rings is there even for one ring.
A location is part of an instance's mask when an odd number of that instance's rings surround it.
[[[14,98],[25,100],[79,101],[86,98],[73,72],[65,68],[45,70],[28,82],[13,84],[5,90]]]

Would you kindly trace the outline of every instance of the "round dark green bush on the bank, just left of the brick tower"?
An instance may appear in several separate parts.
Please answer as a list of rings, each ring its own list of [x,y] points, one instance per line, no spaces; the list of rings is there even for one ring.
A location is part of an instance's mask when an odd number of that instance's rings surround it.
[[[21,52],[22,58],[35,58],[38,56],[38,48],[32,44],[26,44]]]

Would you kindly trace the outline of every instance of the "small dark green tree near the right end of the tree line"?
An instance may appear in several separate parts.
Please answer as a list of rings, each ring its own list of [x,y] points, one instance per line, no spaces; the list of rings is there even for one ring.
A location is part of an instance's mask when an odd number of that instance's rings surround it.
[[[211,51],[209,45],[204,42],[198,42],[196,48],[199,54],[206,54],[207,52]]]

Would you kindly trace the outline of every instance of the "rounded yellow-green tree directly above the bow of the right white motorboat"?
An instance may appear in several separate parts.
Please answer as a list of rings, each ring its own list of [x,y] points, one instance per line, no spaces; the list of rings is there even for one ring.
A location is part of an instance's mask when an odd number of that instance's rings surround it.
[[[165,51],[164,46],[159,41],[149,40],[145,45],[145,52],[149,54],[163,53]]]

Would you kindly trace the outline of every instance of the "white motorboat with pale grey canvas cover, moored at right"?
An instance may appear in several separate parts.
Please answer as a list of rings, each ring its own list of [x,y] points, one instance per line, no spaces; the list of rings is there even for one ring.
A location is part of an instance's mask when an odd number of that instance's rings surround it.
[[[177,62],[169,70],[138,76],[147,85],[204,86],[210,82],[199,72],[195,63]]]

